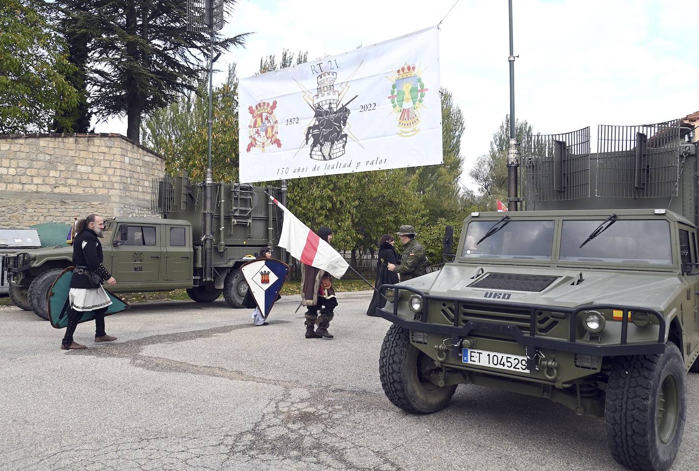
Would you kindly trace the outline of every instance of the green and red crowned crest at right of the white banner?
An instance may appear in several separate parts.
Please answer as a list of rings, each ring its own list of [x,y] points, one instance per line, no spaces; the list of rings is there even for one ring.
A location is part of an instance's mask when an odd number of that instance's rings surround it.
[[[420,131],[420,109],[428,88],[415,66],[407,63],[396,70],[391,80],[393,86],[388,98],[398,115],[398,136],[415,136]]]

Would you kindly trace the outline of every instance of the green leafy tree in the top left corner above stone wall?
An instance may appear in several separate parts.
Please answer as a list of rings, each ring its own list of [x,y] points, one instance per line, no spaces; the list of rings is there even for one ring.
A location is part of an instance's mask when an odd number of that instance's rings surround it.
[[[49,18],[42,1],[0,3],[1,133],[48,131],[55,110],[78,102],[66,44]]]

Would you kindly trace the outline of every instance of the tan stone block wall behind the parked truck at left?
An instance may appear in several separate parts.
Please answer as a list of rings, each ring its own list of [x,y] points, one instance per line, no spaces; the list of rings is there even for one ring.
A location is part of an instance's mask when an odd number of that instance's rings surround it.
[[[121,134],[0,136],[0,227],[150,215],[165,160]]]

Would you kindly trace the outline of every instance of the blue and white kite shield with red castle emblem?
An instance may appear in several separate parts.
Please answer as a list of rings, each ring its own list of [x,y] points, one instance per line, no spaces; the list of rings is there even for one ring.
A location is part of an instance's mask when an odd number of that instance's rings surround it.
[[[240,271],[262,317],[266,318],[279,297],[282,284],[287,280],[289,266],[276,259],[253,260],[245,263]]]

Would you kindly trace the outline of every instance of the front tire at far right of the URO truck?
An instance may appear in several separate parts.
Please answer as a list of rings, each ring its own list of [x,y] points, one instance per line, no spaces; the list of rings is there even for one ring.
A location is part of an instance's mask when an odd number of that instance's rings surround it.
[[[616,358],[605,405],[615,460],[634,470],[667,470],[682,443],[685,415],[686,373],[675,344],[663,354]]]

